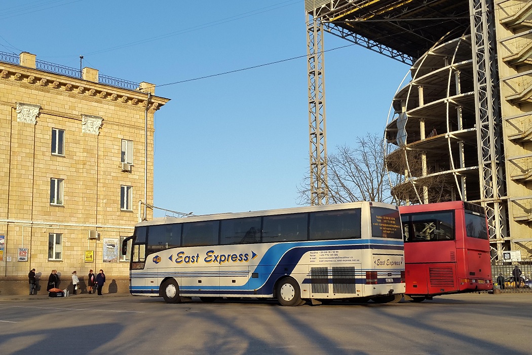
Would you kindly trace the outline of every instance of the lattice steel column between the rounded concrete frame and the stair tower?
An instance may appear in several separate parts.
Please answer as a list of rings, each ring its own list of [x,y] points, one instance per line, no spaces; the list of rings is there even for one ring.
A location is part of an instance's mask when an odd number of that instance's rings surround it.
[[[502,256],[508,233],[504,151],[493,2],[469,0],[476,98],[480,199],[489,221],[495,258]]]

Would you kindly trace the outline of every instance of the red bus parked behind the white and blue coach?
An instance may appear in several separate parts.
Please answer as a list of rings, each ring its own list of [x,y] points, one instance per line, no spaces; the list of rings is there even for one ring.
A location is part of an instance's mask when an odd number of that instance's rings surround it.
[[[399,208],[404,233],[405,299],[493,289],[486,213],[440,202]]]

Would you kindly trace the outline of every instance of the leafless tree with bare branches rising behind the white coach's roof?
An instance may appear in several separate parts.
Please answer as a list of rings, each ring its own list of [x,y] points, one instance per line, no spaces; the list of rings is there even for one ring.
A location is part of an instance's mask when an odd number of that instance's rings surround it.
[[[398,148],[386,153],[384,138],[367,133],[356,138],[355,147],[337,146],[328,154],[327,181],[320,181],[329,202],[374,201],[395,203],[442,202],[451,199],[445,175],[423,166],[422,153]],[[311,204],[310,177],[298,187],[300,204]],[[428,201],[423,200],[428,197]]]

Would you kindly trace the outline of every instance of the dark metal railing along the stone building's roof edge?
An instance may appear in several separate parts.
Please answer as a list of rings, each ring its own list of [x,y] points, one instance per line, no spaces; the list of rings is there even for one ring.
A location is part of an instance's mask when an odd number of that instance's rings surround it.
[[[20,57],[16,54],[0,52],[0,62],[20,65]],[[60,64],[35,60],[35,68],[49,73],[64,75],[66,77],[83,79],[82,71],[80,69],[65,67]],[[113,78],[101,74],[98,74],[98,82],[99,84],[120,87],[127,90],[137,90],[140,85],[138,82]]]

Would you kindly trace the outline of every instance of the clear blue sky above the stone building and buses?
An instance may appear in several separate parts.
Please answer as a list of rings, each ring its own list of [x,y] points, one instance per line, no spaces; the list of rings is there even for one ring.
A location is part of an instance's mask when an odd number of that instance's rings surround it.
[[[306,54],[304,0],[3,5],[0,51],[73,68],[84,55],[84,67],[136,82],[162,85]],[[324,39],[326,49],[350,44]],[[381,133],[409,67],[356,45],[327,52],[325,67],[329,153]],[[155,115],[156,206],[204,214],[297,205],[309,170],[305,58],[155,94],[171,99]]]

